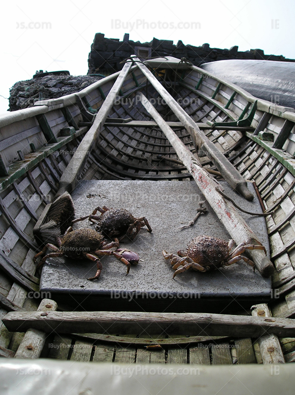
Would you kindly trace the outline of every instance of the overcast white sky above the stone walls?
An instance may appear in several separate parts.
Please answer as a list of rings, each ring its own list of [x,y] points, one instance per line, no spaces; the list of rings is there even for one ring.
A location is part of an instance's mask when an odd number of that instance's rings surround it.
[[[9,88],[36,70],[84,75],[96,33],[134,41],[184,44],[295,58],[294,0],[50,0],[1,2],[0,114]],[[3,97],[4,98],[3,98]]]

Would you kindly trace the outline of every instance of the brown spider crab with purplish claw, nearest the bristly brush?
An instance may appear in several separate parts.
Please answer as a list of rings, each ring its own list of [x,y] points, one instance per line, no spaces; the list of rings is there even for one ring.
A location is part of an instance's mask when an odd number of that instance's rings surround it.
[[[88,258],[97,264],[96,275],[94,277],[90,277],[89,280],[97,280],[102,269],[98,256],[114,255],[127,266],[127,275],[130,272],[131,264],[137,264],[139,261],[139,256],[136,252],[132,252],[126,248],[118,248],[118,238],[115,238],[115,241],[108,243],[100,233],[93,229],[80,228],[73,231],[70,227],[67,229],[63,237],[57,237],[56,239],[58,246],[48,243],[41,252],[34,256],[34,262],[36,262],[36,259],[44,255],[47,249],[54,251],[46,254],[40,260],[37,268],[43,265],[47,258],[51,257],[65,255],[72,259]],[[117,247],[117,249],[111,250],[113,247]]]

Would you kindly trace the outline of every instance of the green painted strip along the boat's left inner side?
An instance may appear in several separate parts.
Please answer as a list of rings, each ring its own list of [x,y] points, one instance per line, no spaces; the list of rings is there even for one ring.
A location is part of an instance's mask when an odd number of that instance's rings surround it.
[[[39,148],[38,151],[27,155],[27,158],[25,158],[24,161],[14,162],[8,168],[8,176],[0,177],[0,192],[4,191],[9,185],[13,184],[14,181],[19,179],[28,170],[36,166],[41,160],[47,158],[53,152],[58,151],[60,148],[62,148],[70,141],[74,140],[76,137],[80,136],[83,133],[86,133],[87,130],[88,127],[85,126],[71,136],[59,137],[57,143],[48,144],[45,147]],[[31,159],[28,159],[28,156],[30,156]]]

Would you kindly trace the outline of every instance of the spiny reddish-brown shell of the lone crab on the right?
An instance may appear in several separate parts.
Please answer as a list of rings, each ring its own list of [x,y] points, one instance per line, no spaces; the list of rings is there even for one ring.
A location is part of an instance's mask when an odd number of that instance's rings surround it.
[[[189,256],[209,270],[217,269],[229,257],[228,241],[210,236],[197,236],[189,242],[186,252],[178,251],[181,256]]]

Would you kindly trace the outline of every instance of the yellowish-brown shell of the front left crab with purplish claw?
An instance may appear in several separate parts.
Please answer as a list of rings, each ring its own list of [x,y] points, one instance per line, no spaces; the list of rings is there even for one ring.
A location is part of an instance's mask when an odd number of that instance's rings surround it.
[[[82,228],[69,232],[62,238],[61,251],[68,258],[83,259],[83,252],[99,249],[104,237],[94,229]]]

